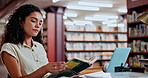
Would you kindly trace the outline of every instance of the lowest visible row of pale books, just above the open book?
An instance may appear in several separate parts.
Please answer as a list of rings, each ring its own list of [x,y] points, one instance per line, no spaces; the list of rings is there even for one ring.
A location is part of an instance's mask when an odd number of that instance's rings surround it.
[[[91,57],[97,57],[98,59],[111,59],[113,52],[67,52],[67,60],[71,60],[73,58],[82,58],[85,60],[89,60]]]

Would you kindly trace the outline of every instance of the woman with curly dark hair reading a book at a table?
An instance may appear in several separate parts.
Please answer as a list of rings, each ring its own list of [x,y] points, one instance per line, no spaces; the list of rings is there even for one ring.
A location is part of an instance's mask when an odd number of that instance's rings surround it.
[[[43,17],[38,7],[20,6],[6,25],[1,57],[11,78],[42,78],[65,69],[64,62],[48,63],[41,42]]]

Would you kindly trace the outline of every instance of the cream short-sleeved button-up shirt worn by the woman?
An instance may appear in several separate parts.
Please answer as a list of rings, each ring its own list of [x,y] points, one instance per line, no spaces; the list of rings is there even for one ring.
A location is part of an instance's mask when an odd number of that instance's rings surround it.
[[[32,42],[32,47],[25,43],[23,43],[23,45],[5,43],[0,52],[0,54],[4,51],[7,52],[18,61],[22,75],[30,74],[48,63],[43,46],[33,40]]]

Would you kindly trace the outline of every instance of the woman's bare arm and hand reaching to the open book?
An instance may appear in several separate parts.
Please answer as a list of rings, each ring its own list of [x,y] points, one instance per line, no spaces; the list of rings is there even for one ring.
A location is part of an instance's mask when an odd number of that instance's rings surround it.
[[[64,62],[48,63],[35,72],[29,75],[22,76],[18,61],[13,56],[8,54],[7,52],[3,52],[2,59],[11,78],[42,78],[46,73],[56,73],[62,71],[66,67]]]

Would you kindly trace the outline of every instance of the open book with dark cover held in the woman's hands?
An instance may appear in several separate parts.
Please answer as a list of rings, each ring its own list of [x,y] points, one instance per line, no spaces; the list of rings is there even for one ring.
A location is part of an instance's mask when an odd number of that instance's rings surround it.
[[[61,76],[71,77],[77,75],[81,71],[91,67],[91,65],[96,62],[98,58],[92,57],[89,60],[83,60],[80,58],[73,58],[66,63],[67,67],[62,72],[52,74],[48,78],[58,78]]]

